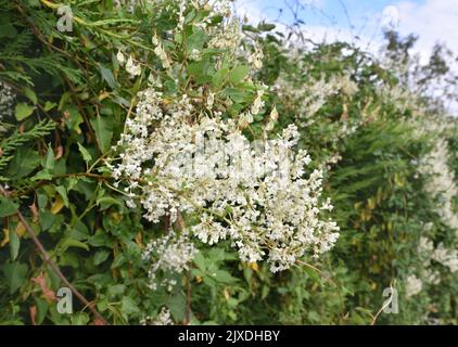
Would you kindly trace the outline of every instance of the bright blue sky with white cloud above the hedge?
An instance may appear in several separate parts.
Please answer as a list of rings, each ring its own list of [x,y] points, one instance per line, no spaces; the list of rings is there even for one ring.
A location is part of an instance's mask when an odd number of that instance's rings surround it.
[[[458,53],[458,0],[297,1],[304,30],[315,39],[357,40],[374,50],[382,41],[382,26],[390,22],[402,34],[420,36],[417,51],[422,56],[428,56],[437,41]],[[237,0],[236,8],[251,22],[278,20],[291,24],[294,18],[288,3],[295,0]]]

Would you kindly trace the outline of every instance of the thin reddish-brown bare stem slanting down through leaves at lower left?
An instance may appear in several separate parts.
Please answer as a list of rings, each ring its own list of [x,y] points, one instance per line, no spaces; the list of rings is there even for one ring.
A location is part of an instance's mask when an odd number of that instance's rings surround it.
[[[8,192],[5,189],[0,185],[0,192],[8,196]],[[102,317],[102,314],[99,313],[99,311],[93,307],[93,304],[90,303],[75,286],[65,278],[65,275],[62,273],[59,266],[51,260],[51,257],[49,256],[48,252],[46,250],[42,243],[38,240],[37,235],[35,234],[35,231],[31,229],[30,224],[25,219],[24,215],[20,211],[20,209],[16,210],[16,215],[20,218],[21,222],[24,224],[27,233],[30,235],[31,240],[34,241],[35,245],[38,248],[38,252],[40,253],[42,259],[44,262],[47,262],[52,271],[61,279],[61,281],[72,291],[72,293],[86,306],[89,308],[89,310],[93,313],[93,316],[101,321],[104,325],[109,325],[109,322]]]

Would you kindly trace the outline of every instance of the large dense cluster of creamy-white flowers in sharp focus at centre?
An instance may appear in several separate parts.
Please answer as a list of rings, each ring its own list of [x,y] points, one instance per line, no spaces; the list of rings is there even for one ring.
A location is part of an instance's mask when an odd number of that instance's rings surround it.
[[[201,221],[191,231],[201,241],[214,244],[229,236],[243,260],[267,255],[273,272],[307,250],[319,255],[332,247],[339,228],[320,219],[322,209],[332,208],[319,202],[322,172],[303,178],[310,158],[305,151],[293,156],[294,126],[253,149],[237,121],[198,117],[187,95],[167,110],[153,89],[140,98],[118,143],[122,162],[113,176],[130,182],[127,190],[147,219],[198,214]]]

